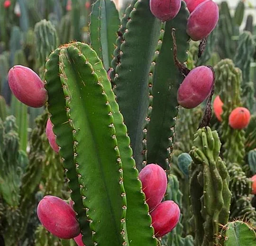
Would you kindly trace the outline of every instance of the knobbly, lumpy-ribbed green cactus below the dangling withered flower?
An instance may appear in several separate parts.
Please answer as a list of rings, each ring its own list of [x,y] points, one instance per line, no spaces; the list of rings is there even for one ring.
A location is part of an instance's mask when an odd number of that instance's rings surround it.
[[[210,127],[199,129],[190,151],[190,196],[195,245],[211,246],[217,243],[219,223],[229,220],[229,174],[219,157],[221,143]]]

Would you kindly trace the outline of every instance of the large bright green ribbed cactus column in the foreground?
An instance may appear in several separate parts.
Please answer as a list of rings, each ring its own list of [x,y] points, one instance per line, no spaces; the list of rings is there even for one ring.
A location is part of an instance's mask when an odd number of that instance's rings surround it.
[[[101,60],[87,44],[65,44],[50,55],[46,81],[84,243],[156,246],[127,129]]]

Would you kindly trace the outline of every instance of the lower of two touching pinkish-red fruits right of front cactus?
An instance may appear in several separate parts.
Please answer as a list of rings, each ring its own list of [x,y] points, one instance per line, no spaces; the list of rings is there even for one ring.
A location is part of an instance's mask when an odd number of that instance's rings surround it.
[[[180,208],[174,201],[161,202],[151,213],[155,237],[163,237],[179,222]]]

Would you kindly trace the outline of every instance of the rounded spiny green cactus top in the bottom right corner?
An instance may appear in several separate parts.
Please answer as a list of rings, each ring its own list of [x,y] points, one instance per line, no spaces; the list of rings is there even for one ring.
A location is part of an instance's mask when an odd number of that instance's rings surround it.
[[[222,225],[219,234],[219,242],[223,246],[254,246],[255,240],[256,228],[239,220]]]

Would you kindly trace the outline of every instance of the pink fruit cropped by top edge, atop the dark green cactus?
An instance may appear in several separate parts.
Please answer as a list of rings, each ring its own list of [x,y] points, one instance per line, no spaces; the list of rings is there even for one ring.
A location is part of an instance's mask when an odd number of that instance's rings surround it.
[[[162,20],[173,19],[181,9],[181,0],[150,0],[152,14]]]

